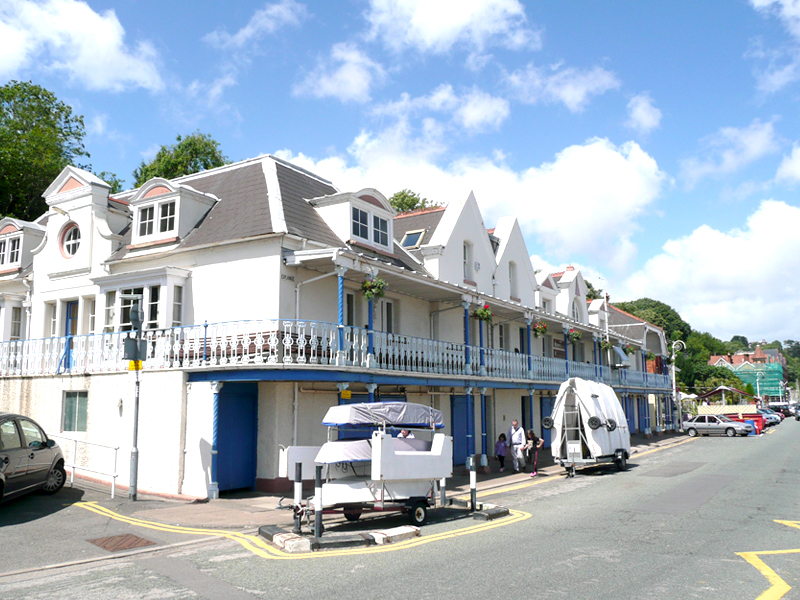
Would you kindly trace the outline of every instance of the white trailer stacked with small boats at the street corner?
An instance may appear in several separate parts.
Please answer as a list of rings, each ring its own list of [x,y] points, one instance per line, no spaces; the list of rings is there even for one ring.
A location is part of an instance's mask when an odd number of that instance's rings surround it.
[[[453,475],[453,438],[436,432],[444,427],[441,411],[408,402],[346,404],[330,408],[322,424],[329,440],[323,446],[281,449],[282,477],[296,462],[303,463],[305,479],[323,467],[320,497],[307,503],[306,515],[322,510],[355,521],[363,512],[403,511],[413,524],[425,522]],[[403,429],[418,437],[395,437]],[[368,439],[334,439],[354,430]]]

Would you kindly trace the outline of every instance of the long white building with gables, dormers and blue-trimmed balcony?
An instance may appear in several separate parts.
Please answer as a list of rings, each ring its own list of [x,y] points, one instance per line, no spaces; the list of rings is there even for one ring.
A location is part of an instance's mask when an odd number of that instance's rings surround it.
[[[607,327],[578,271],[537,281],[516,219],[487,230],[471,194],[396,215],[377,190],[340,192],[272,156],[108,191],[68,167],[45,215],[0,222],[0,410],[120,447],[122,485],[132,295],[147,348],[143,491],[288,489],[279,446],[323,442],[337,402],[432,404],[463,464],[514,418],[548,440],[540,420],[567,377],[613,385],[633,431],[670,393],[663,369],[645,368],[644,353],[666,355],[663,332]],[[371,302],[374,278],[388,287]],[[484,306],[490,323],[475,317]],[[620,365],[628,346],[642,360]],[[110,457],[79,444],[95,471]]]

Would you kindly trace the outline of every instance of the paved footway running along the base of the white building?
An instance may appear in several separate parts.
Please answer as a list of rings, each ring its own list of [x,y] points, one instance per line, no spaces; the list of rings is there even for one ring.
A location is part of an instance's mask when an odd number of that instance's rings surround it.
[[[665,432],[645,438],[641,435],[631,436],[631,462],[636,462],[636,455],[659,447],[673,445],[687,439],[684,434]],[[490,459],[490,472],[479,471],[477,474],[478,493],[516,485],[530,481],[528,472],[514,473],[510,467],[510,457],[506,460],[506,470],[499,472],[499,464]],[[549,449],[539,452],[537,464],[538,477],[563,476],[566,471],[554,464]],[[109,491],[102,484],[81,480],[76,477],[76,487],[91,489],[94,492]],[[469,497],[469,472],[463,467],[457,468],[454,476],[447,480],[446,493],[448,499]],[[304,496],[307,495],[304,492]],[[291,510],[291,493],[286,495],[265,494],[259,492],[243,492],[223,495],[218,500],[191,500],[175,497],[139,494],[139,500],[133,502],[127,498],[124,490],[117,490],[115,500],[101,500],[106,506],[114,505],[119,513],[135,516],[138,519],[156,521],[169,525],[197,527],[203,529],[253,529],[262,526],[280,526],[291,529],[293,512]],[[330,517],[326,516],[326,522]]]

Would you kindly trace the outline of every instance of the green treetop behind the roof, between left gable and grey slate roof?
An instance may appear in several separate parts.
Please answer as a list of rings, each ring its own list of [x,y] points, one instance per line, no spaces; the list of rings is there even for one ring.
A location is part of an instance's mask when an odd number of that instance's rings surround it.
[[[141,162],[133,172],[133,186],[139,187],[153,177],[174,179],[227,165],[230,161],[220,150],[219,142],[210,135],[195,131],[178,136],[171,146],[161,146],[150,162]]]

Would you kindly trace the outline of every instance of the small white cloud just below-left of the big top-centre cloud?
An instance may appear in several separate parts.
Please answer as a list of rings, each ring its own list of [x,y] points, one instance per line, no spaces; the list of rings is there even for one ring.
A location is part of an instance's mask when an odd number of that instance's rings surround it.
[[[373,83],[382,81],[385,76],[383,67],[354,44],[341,43],[331,48],[330,58],[321,59],[316,68],[294,86],[293,92],[298,96],[364,103],[370,100]]]

